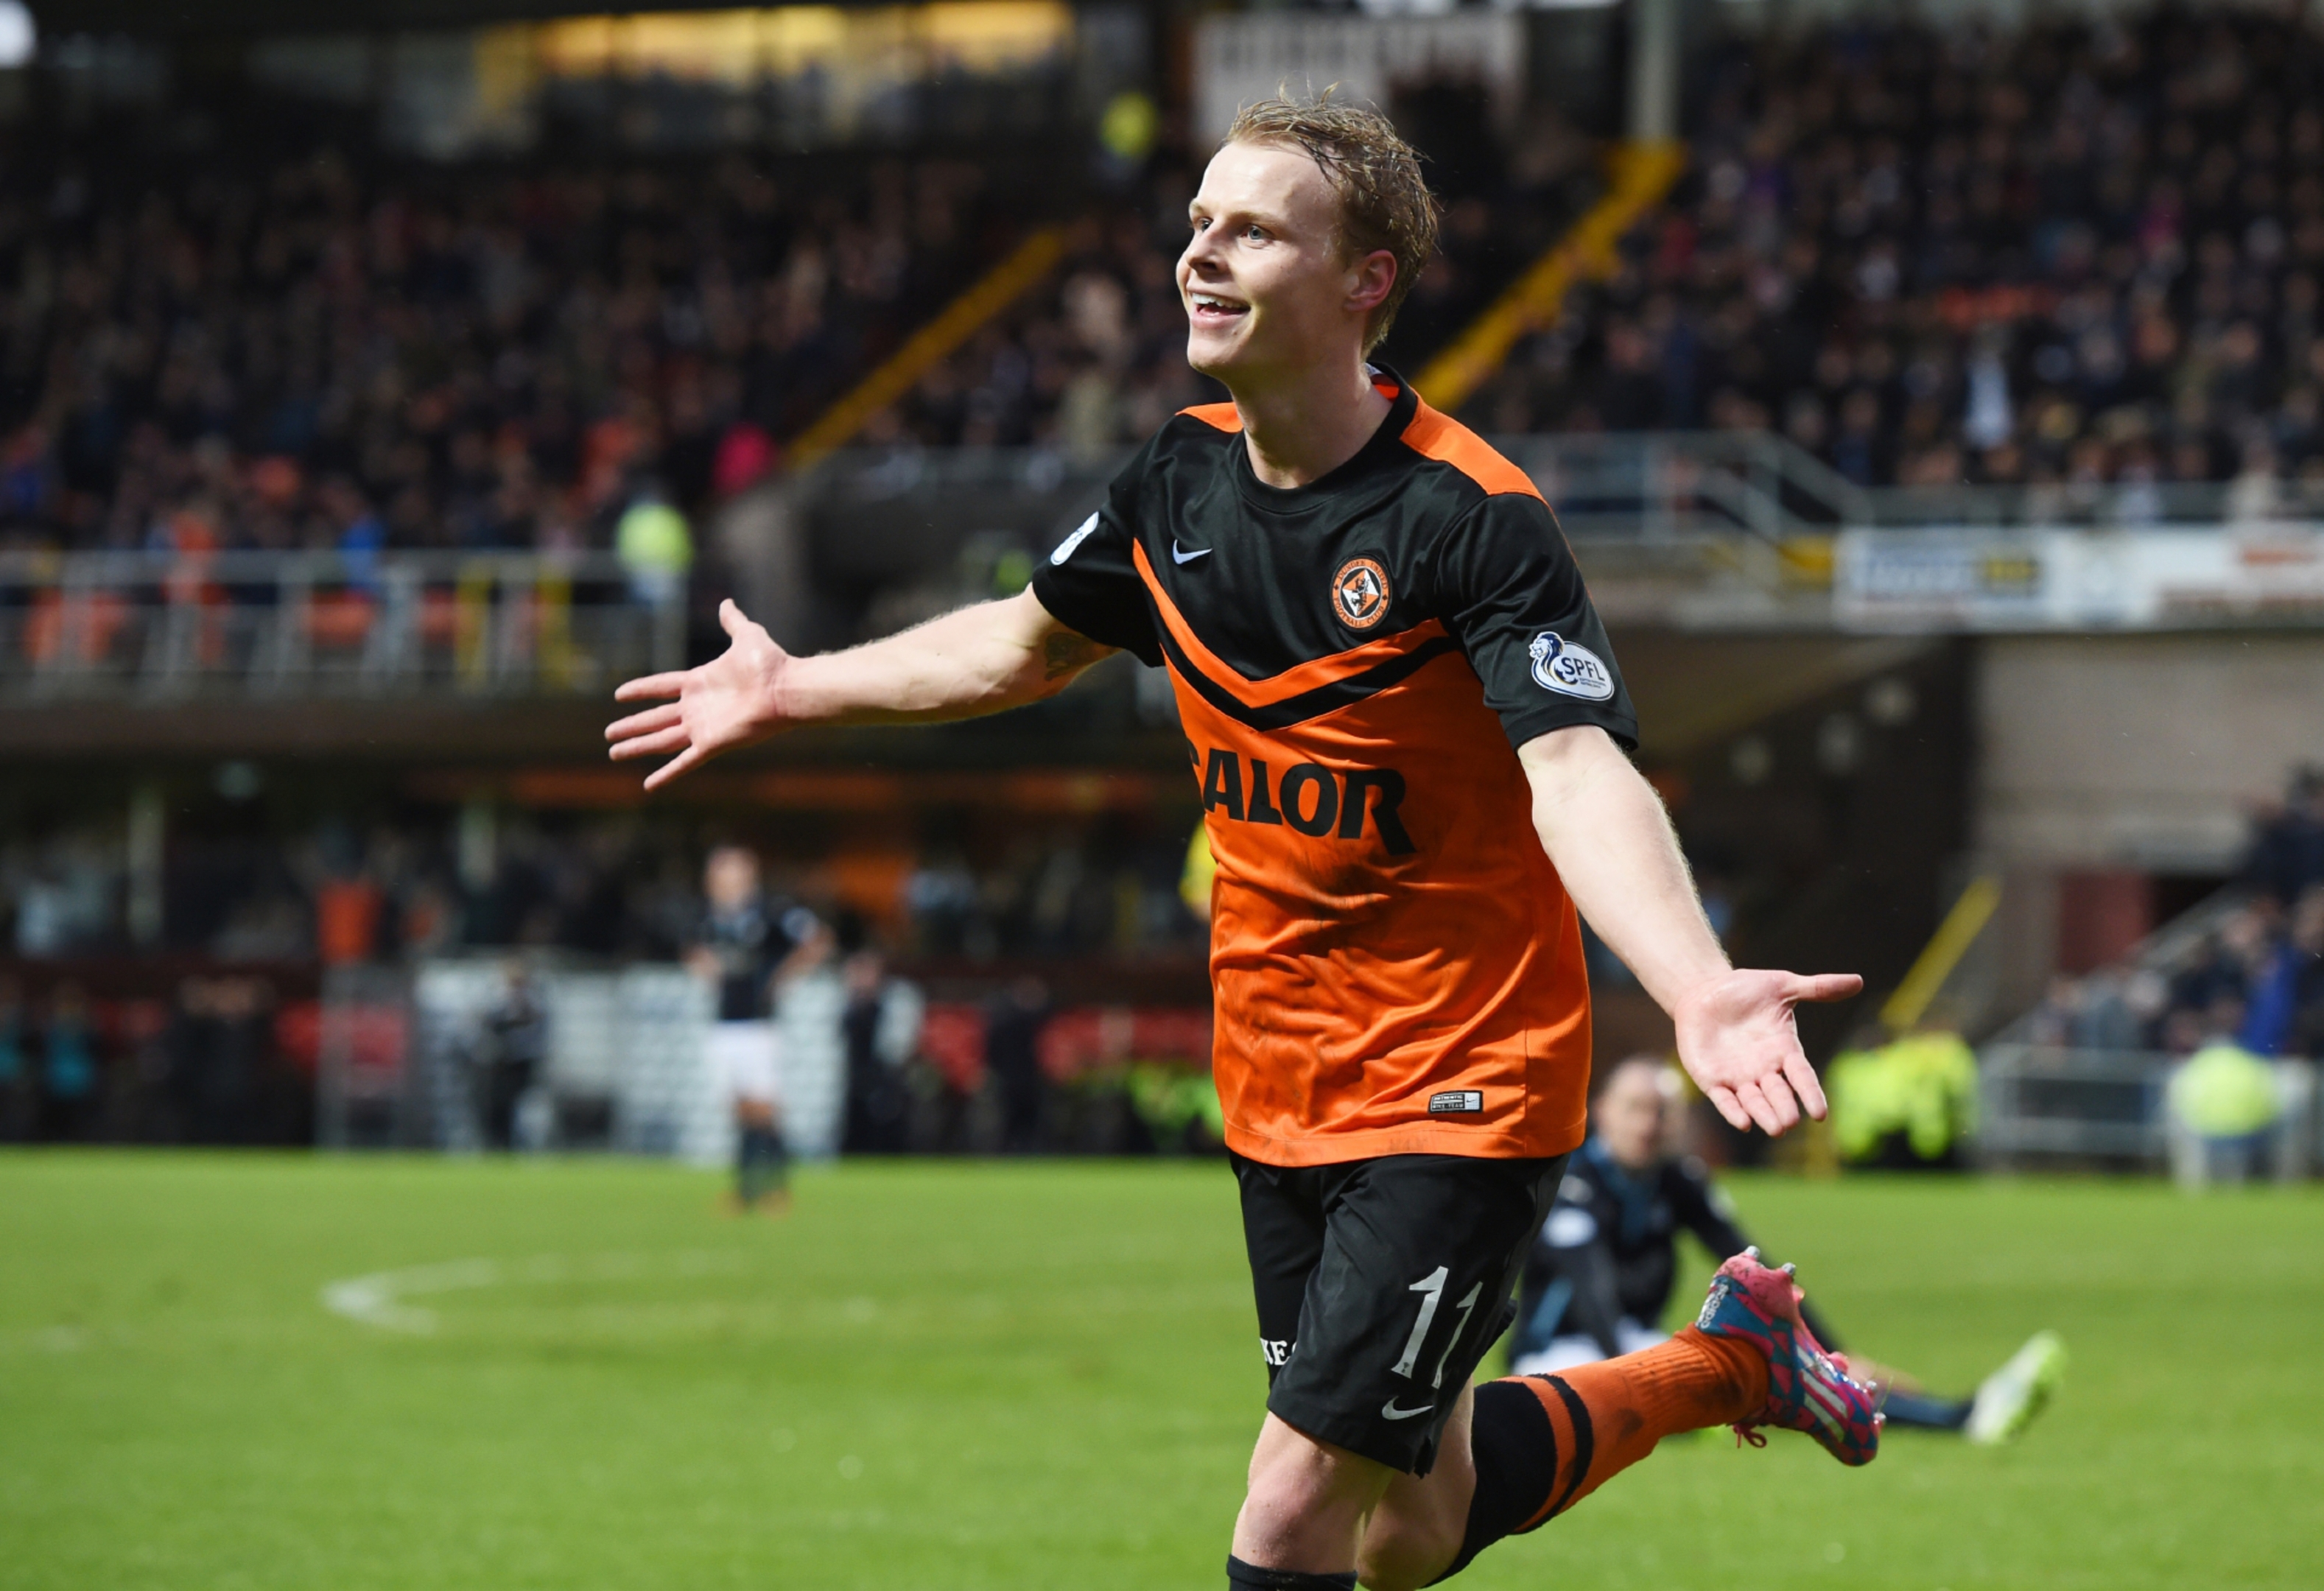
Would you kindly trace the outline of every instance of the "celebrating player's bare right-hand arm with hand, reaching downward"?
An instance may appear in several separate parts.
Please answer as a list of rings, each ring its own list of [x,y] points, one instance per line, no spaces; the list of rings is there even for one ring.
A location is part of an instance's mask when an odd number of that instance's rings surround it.
[[[1678,1029],[1678,1061],[1731,1126],[1769,1136],[1822,1120],[1824,1089],[1799,1050],[1792,1006],[1838,1001],[1855,973],[1736,971],[1727,964],[1662,797],[1594,727],[1552,729],[1518,748],[1534,829],[1590,927]]]

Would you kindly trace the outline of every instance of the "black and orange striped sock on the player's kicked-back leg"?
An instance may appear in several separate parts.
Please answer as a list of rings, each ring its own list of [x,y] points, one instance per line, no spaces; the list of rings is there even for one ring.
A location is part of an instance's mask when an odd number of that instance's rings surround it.
[[[1750,1342],[1687,1326],[1643,1354],[1476,1389],[1469,1454],[1476,1493],[1459,1556],[1469,1568],[1504,1535],[1566,1512],[1680,1431],[1727,1426],[1766,1403],[1766,1359]]]

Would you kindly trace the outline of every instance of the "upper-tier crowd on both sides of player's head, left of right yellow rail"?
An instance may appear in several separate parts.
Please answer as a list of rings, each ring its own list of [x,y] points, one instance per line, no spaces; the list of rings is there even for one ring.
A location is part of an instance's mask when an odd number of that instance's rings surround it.
[[[0,170],[0,550],[614,546],[700,518],[1034,225],[1067,260],[869,446],[1102,458],[1215,397],[1171,265],[1169,142],[913,158],[425,165],[290,102],[58,123]],[[1448,195],[1390,355],[1432,353],[1587,204],[1592,149],[1459,86],[1399,102]],[[281,153],[297,151],[297,153]]]

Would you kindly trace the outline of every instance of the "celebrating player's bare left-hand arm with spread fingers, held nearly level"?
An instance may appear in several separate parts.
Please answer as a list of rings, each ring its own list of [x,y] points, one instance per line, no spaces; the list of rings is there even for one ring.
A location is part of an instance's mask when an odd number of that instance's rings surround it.
[[[660,701],[604,732],[614,762],[669,755],[646,790],[783,729],[934,725],[1041,701],[1116,650],[1060,625],[1030,590],[820,657],[792,657],[732,602],[718,606],[718,622],[725,653],[614,692],[616,701]]]

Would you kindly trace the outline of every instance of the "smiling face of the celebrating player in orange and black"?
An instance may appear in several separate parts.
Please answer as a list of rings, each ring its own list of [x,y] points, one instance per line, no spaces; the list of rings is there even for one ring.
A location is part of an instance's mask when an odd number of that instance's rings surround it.
[[[1178,258],[1188,365],[1234,388],[1362,348],[1397,279],[1385,249],[1341,253],[1339,195],[1304,149],[1227,144],[1188,204]]]

